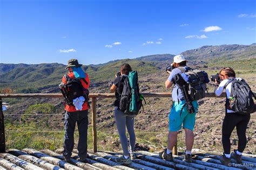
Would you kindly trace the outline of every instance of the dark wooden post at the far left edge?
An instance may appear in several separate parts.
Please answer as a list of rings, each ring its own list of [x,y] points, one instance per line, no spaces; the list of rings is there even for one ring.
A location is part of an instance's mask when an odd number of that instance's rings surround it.
[[[5,152],[5,134],[4,134],[4,113],[2,98],[0,97],[0,153]]]

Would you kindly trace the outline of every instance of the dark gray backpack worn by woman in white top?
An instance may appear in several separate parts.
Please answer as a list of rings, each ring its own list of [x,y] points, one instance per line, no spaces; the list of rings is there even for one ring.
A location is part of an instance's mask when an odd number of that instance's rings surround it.
[[[230,98],[226,97],[226,108],[228,110],[233,110],[237,114],[249,115],[255,111],[255,104],[253,102],[254,96],[251,88],[245,82],[244,79],[229,80],[224,88],[226,89],[227,85],[231,83],[231,94]]]

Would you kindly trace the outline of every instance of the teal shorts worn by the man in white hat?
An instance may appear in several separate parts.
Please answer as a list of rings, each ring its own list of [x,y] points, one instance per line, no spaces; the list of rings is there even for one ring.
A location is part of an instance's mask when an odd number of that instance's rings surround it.
[[[193,101],[192,104],[196,110],[193,114],[189,114],[187,111],[187,107],[185,106],[181,112],[180,111],[185,104],[185,101],[173,102],[171,112],[169,115],[169,131],[178,131],[181,129],[181,125],[183,124],[183,128],[190,129],[193,131],[194,123],[196,121],[196,112],[198,110],[198,102]]]

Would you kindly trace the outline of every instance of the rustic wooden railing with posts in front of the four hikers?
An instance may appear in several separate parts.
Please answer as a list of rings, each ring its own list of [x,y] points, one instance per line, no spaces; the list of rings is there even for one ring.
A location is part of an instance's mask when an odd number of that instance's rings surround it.
[[[144,97],[171,97],[171,93],[142,93]],[[255,93],[254,93],[255,94]],[[214,93],[206,93],[206,97],[215,97]],[[256,94],[255,94],[256,95]],[[4,132],[4,114],[2,110],[2,98],[18,98],[18,97],[31,97],[31,98],[62,98],[62,94],[0,94],[0,153],[5,152],[5,132]],[[97,152],[97,124],[96,124],[96,102],[97,98],[114,98],[114,94],[90,94],[92,99],[92,142],[93,152]],[[222,94],[220,97],[225,97]],[[173,154],[178,154],[177,143],[173,147]]]

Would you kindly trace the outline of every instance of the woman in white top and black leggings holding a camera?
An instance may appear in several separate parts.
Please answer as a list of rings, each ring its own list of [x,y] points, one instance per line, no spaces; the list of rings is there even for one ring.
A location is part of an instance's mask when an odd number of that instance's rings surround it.
[[[220,96],[223,93],[224,89],[226,90],[226,104],[225,104],[225,118],[222,126],[222,143],[224,148],[223,157],[220,158],[220,161],[226,165],[231,165],[231,158],[235,159],[238,164],[242,163],[241,155],[245,149],[247,140],[246,140],[246,128],[248,122],[250,121],[250,114],[241,115],[233,110],[231,110],[229,105],[229,100],[232,98],[232,80],[242,80],[240,78],[235,78],[235,72],[230,67],[224,67],[220,70],[219,73],[220,81],[218,77],[215,77],[215,96]],[[234,150],[230,154],[231,144],[230,136],[234,128],[237,128],[238,135],[238,150]]]

